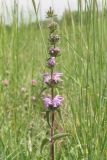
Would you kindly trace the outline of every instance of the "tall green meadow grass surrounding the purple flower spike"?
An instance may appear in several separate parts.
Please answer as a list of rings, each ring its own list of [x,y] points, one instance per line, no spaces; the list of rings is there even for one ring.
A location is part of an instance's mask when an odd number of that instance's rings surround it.
[[[35,17],[19,25],[14,6],[10,26],[0,18],[0,160],[50,160],[49,145],[40,153],[50,132],[41,98],[49,21],[39,21],[38,10]],[[56,21],[62,55],[55,70],[64,74],[57,92],[65,100],[55,126],[70,136],[55,143],[55,160],[107,160],[107,7],[98,11],[91,0],[82,11],[78,1],[78,11]]]

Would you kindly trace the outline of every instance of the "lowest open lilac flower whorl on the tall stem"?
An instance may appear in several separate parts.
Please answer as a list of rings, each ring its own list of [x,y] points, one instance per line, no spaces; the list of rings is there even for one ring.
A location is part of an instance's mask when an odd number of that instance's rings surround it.
[[[48,96],[45,97],[43,100],[46,108],[58,108],[62,105],[64,98],[60,95],[57,95],[53,99],[51,96]]]

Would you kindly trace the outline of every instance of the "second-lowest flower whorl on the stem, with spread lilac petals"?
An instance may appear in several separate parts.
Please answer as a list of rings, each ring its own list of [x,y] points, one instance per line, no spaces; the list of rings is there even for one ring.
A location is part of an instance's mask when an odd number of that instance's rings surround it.
[[[44,82],[48,85],[55,85],[58,84],[59,82],[62,82],[61,77],[63,76],[62,73],[53,73],[52,77],[51,74],[45,73],[44,74]]]

